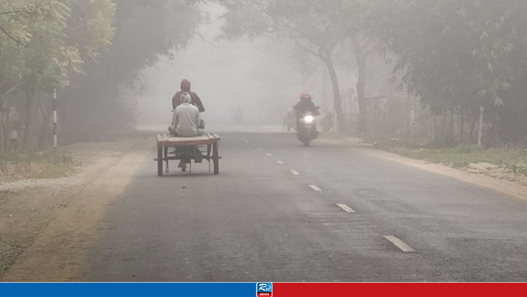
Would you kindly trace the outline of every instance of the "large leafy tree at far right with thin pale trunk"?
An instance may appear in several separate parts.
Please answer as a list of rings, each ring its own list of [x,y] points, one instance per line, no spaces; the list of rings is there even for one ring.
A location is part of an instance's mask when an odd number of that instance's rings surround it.
[[[435,114],[483,112],[514,101],[525,77],[524,1],[394,1],[384,38],[401,57],[402,82]]]

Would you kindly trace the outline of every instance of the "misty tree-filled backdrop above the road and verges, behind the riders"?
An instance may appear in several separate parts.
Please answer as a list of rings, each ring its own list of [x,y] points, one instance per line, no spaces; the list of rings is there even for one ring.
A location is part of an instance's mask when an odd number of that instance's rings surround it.
[[[60,144],[164,130],[183,78],[208,123],[280,126],[306,92],[341,133],[527,145],[521,0],[19,0],[0,27],[4,153],[50,146],[55,106]]]

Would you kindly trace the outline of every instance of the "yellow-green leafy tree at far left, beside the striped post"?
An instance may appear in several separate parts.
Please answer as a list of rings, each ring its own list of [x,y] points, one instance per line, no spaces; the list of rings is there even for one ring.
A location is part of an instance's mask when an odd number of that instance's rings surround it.
[[[31,131],[34,90],[50,87],[68,65],[79,63],[74,47],[66,45],[65,19],[69,8],[60,1],[21,0],[4,3],[0,46],[6,57],[6,76],[2,84],[21,86],[26,94],[26,132]],[[12,91],[13,86],[8,88]],[[7,105],[7,110],[9,106]],[[7,118],[9,115],[7,115]],[[28,135],[24,134],[24,142]]]

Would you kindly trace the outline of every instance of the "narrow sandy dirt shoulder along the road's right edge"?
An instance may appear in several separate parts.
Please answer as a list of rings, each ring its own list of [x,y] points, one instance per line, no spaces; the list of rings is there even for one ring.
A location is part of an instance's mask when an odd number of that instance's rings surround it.
[[[350,150],[360,150],[365,154],[379,157],[387,161],[397,162],[429,172],[450,176],[462,182],[486,187],[487,189],[501,192],[522,200],[527,200],[527,177],[521,174],[506,172],[493,164],[471,163],[465,167],[454,168],[376,149],[369,144],[364,144],[360,138],[343,136],[336,133],[321,135],[318,141],[335,146],[349,147]]]

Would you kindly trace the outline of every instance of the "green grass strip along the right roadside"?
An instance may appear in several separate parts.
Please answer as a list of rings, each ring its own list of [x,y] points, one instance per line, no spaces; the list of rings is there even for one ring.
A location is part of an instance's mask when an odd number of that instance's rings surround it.
[[[490,163],[514,174],[527,176],[527,150],[511,147],[485,149],[474,144],[440,145],[418,138],[370,138],[374,147],[402,156],[455,168]]]

